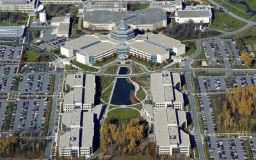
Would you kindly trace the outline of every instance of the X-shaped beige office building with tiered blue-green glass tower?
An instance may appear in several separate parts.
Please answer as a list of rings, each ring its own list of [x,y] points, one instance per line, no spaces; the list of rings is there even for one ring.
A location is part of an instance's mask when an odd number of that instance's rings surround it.
[[[135,35],[131,26],[121,21],[109,35],[85,35],[61,46],[61,54],[68,58],[76,55],[83,64],[92,64],[118,54],[119,58],[137,56],[143,60],[162,63],[170,58],[171,52],[177,56],[185,53],[186,45],[179,40],[164,35],[147,33]]]

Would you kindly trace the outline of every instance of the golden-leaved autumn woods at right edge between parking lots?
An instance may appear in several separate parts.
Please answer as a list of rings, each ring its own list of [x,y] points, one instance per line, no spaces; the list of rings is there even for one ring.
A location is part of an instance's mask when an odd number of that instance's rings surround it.
[[[212,97],[218,131],[255,132],[255,95],[256,86],[238,86],[235,92]]]

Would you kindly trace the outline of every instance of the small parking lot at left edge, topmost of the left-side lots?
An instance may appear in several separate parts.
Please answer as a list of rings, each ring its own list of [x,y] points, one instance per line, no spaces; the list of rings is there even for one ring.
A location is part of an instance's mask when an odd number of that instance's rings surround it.
[[[21,47],[0,45],[0,61],[19,61]]]

